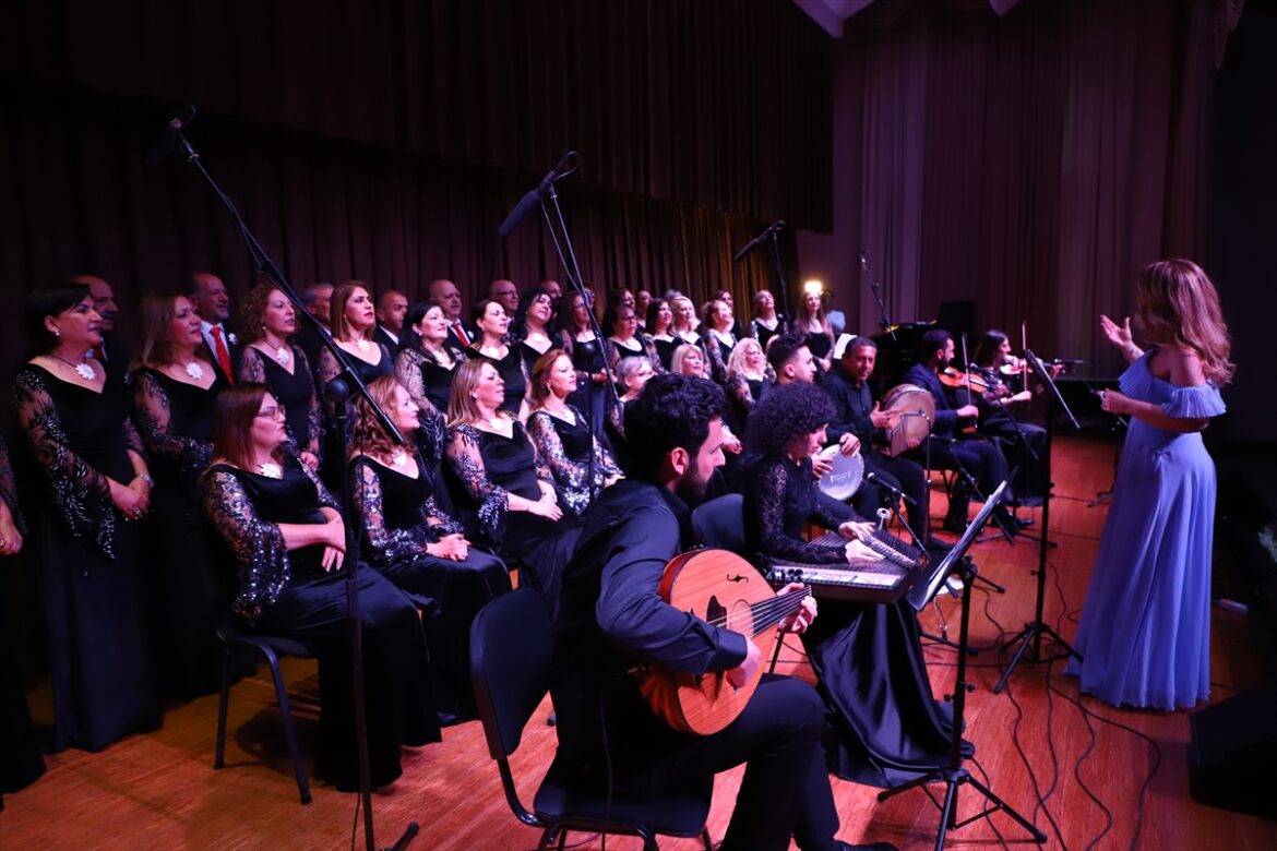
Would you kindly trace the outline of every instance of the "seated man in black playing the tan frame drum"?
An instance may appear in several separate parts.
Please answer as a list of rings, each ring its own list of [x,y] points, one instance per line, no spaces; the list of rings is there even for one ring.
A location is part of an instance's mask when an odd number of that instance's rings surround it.
[[[853,337],[843,350],[843,357],[821,385],[834,401],[834,417],[826,434],[830,440],[840,440],[853,434],[861,441],[865,472],[872,472],[890,487],[904,492],[909,526],[914,535],[927,535],[927,478],[922,467],[908,458],[893,458],[873,448],[875,438],[884,438],[885,429],[894,425],[893,416],[880,411],[870,393],[870,375],[877,360],[877,343],[868,337]],[[873,482],[865,482],[861,490],[879,490]],[[885,501],[894,499],[888,489],[881,489]]]

